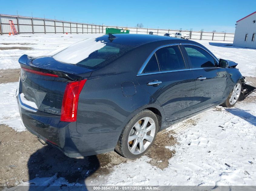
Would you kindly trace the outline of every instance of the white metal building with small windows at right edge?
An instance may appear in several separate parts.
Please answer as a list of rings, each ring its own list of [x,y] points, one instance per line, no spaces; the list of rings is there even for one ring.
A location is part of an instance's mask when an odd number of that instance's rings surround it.
[[[256,11],[236,21],[233,46],[256,48]]]

